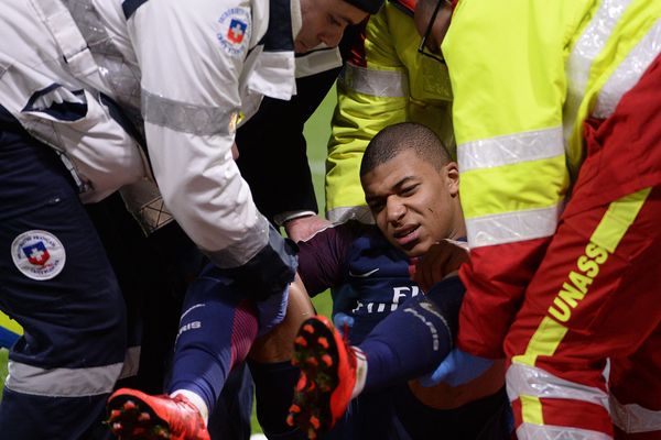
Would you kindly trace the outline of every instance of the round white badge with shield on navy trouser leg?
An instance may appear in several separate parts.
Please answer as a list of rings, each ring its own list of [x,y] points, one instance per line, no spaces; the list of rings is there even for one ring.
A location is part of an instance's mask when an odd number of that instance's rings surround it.
[[[64,268],[66,252],[62,242],[46,231],[23,232],[11,243],[11,257],[23,275],[51,279]]]

